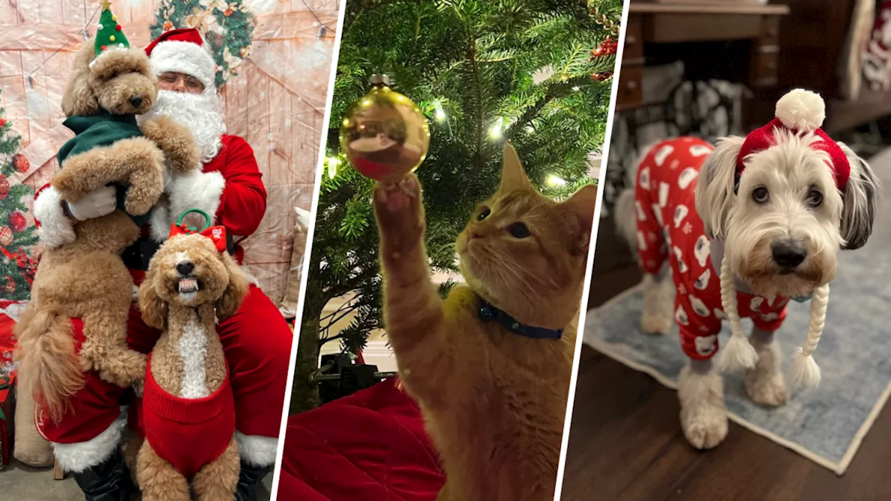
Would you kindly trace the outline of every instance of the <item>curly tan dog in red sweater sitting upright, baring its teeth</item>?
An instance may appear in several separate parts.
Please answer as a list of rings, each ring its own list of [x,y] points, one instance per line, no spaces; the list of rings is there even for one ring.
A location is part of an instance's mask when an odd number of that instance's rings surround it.
[[[131,440],[126,451],[139,451],[135,476],[144,501],[188,501],[190,483],[200,500],[235,498],[235,408],[216,321],[235,313],[247,293],[248,280],[225,246],[201,234],[174,236],[151,259],[139,308],[163,333],[136,404],[145,439],[141,447]]]

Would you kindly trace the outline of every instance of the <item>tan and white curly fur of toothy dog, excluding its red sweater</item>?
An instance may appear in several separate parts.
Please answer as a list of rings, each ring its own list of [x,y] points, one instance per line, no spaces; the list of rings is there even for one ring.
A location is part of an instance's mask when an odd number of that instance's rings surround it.
[[[194,266],[186,275],[177,269],[185,261]],[[185,278],[197,281],[198,292],[180,292],[180,281]],[[139,308],[146,324],[164,330],[151,351],[151,375],[163,390],[182,398],[203,398],[223,385],[225,356],[217,336],[215,310],[220,318],[233,315],[247,296],[248,287],[248,280],[235,261],[228,254],[217,252],[204,236],[176,236],[161,246],[139,289]],[[200,324],[200,337],[204,338],[200,340],[203,346],[197,364],[191,359],[196,353],[186,353],[187,343],[181,342],[190,330],[188,326],[196,323]],[[127,441],[125,456],[132,461],[139,440],[131,437]],[[148,440],[142,440],[138,450],[135,474],[143,499],[190,499],[190,482],[158,456]],[[223,455],[192,477],[192,489],[201,500],[234,499],[239,468],[238,444],[233,436]]]

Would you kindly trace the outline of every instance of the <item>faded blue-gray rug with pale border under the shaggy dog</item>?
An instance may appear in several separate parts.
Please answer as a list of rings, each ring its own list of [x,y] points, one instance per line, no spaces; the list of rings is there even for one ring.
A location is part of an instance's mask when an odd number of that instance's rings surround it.
[[[871,161],[886,191],[891,190],[891,152]],[[791,448],[837,474],[860,446],[891,391],[891,201],[879,204],[870,242],[839,254],[830,283],[826,327],[814,357],[822,369],[817,388],[796,390],[785,406],[758,407],[748,399],[741,374],[726,374],[724,391],[731,419]],[[686,364],[677,328],[664,336],[640,330],[642,292],[635,287],[587,313],[584,342],[617,361],[676,388]],[[778,332],[784,370],[804,341],[810,303],[789,305]],[[751,322],[743,320],[747,332]],[[721,345],[730,337],[724,323]],[[789,378],[787,378],[789,382]],[[680,424],[679,424],[680,425]]]

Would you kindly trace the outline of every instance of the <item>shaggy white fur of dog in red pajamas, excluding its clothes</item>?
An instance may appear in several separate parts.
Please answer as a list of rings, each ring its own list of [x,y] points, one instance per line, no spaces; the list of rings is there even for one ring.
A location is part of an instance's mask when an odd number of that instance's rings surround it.
[[[758,296],[804,296],[829,283],[836,275],[838,251],[857,249],[871,234],[879,198],[879,181],[870,166],[845,144],[840,144],[851,166],[851,177],[838,190],[827,167],[825,152],[810,147],[813,133],[794,134],[778,129],[775,144],[747,157],[745,175],[734,193],[736,159],[744,138],[721,139],[699,170],[696,211],[706,236],[724,242],[723,259],[732,272]],[[753,193],[765,188],[769,203],[756,203]],[[822,193],[817,207],[808,204],[813,191]],[[619,234],[636,249],[634,190],[619,196],[616,208]],[[801,242],[806,259],[793,273],[783,272],[772,257],[772,243]],[[718,265],[713,262],[713,267]],[[644,275],[642,330],[667,333],[673,318],[674,284],[665,273]],[[713,270],[717,276],[718,269]],[[781,373],[780,350],[772,333],[753,332],[756,365],[744,374],[749,398],[775,407],[789,397]],[[696,448],[714,448],[727,434],[723,378],[711,370],[710,360],[693,361],[678,381],[681,424]]]

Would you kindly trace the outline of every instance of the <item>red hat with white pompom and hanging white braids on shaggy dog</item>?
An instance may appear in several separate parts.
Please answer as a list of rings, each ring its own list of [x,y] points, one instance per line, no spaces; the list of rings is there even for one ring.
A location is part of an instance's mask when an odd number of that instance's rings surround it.
[[[736,193],[740,188],[740,177],[746,168],[745,160],[748,155],[776,145],[777,141],[774,136],[777,130],[781,129],[789,130],[793,134],[813,133],[814,136],[818,136],[820,141],[809,144],[809,147],[829,155],[829,160],[826,163],[835,177],[836,187],[839,190],[844,189],[851,177],[851,164],[841,147],[820,128],[825,118],[826,104],[823,103],[819,94],[804,89],[795,89],[782,96],[777,102],[776,118],[746,136],[736,159],[736,183],[733,185],[733,192]],[[724,314],[730,320],[732,336],[723,348],[718,368],[722,371],[752,368],[756,365],[758,355],[742,332],[740,314],[736,305],[735,278],[729,259],[724,259],[721,264],[720,281],[721,303]],[[820,383],[820,366],[813,360],[813,351],[817,349],[823,325],[826,324],[829,296],[830,286],[828,283],[813,290],[807,337],[804,344],[798,348],[792,365],[792,381],[795,384],[816,386]]]

